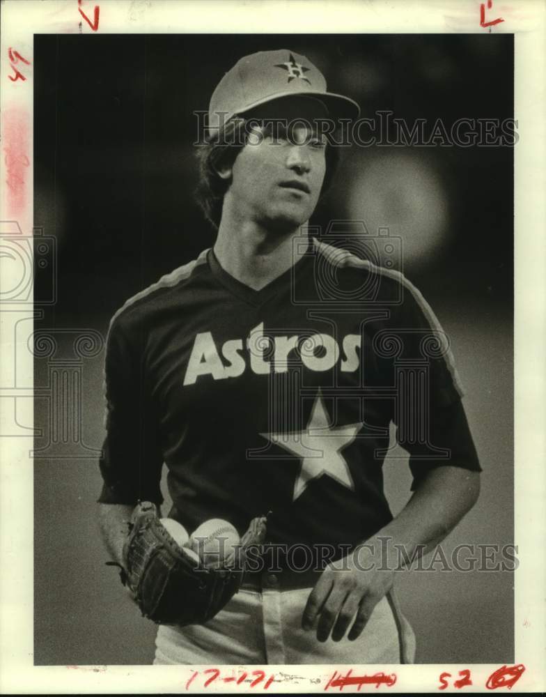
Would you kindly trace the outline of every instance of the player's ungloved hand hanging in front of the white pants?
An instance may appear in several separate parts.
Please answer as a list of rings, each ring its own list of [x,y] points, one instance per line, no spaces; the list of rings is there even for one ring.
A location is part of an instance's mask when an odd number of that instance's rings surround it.
[[[334,641],[341,641],[352,622],[348,639],[358,638],[373,608],[393,585],[393,572],[380,566],[362,547],[331,562],[307,599],[303,629],[313,629],[318,620],[318,641],[327,641],[330,632]]]

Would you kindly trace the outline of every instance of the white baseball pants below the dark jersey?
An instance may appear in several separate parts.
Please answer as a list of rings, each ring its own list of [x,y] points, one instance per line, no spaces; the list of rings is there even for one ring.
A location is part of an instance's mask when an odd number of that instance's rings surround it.
[[[161,625],[155,665],[409,664],[415,637],[393,591],[376,606],[361,636],[322,643],[301,627],[311,588],[242,588],[203,625]]]

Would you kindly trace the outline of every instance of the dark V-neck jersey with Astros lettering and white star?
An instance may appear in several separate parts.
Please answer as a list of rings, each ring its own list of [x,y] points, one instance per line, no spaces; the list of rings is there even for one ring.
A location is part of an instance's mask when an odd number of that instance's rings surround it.
[[[102,503],[162,502],[189,532],[355,544],[391,520],[389,424],[414,486],[479,470],[448,337],[400,273],[313,240],[254,291],[212,250],[128,300],[110,323]]]

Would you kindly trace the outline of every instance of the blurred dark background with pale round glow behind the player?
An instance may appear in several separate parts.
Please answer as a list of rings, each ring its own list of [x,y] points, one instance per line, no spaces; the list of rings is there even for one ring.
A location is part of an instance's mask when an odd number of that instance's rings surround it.
[[[428,132],[437,118],[449,132],[458,118],[514,116],[510,35],[36,35],[34,224],[56,238],[57,254],[56,302],[36,328],[59,332],[61,345],[61,330],[105,336],[127,298],[214,243],[193,194],[193,112],[208,109],[241,56],[279,47],[307,56],[362,116],[391,110],[410,127],[425,118]],[[343,148],[336,182],[313,224],[364,220],[402,238],[403,270],[450,335],[467,387],[484,486],[447,544],[511,542],[513,148]],[[38,271],[37,302],[51,286]],[[36,385],[48,360],[36,359]],[[104,436],[102,360],[88,358],[82,378],[83,438],[94,448]],[[36,405],[43,445],[52,417]],[[154,627],[103,566],[96,459],[48,454],[35,468],[36,664],[150,662]],[[385,470],[396,512],[410,478],[403,459]],[[510,574],[424,576],[400,588],[418,661],[513,660]]]

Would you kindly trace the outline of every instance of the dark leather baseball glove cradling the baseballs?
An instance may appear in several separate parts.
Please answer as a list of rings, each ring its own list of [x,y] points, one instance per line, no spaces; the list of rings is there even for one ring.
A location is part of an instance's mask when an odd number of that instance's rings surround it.
[[[121,580],[144,617],[166,625],[201,624],[239,590],[245,552],[265,537],[265,516],[254,518],[235,557],[215,568],[187,554],[162,526],[153,503],[135,507],[123,546]]]

